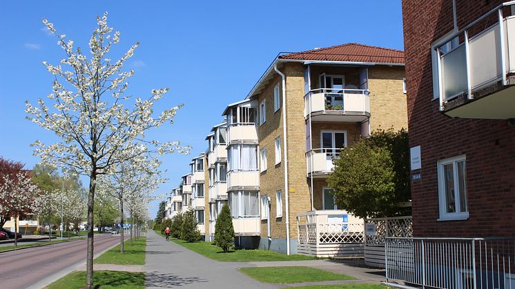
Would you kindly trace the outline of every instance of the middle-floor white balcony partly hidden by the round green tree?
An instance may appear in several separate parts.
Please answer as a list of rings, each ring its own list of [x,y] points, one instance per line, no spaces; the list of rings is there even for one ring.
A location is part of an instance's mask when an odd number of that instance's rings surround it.
[[[308,177],[327,177],[334,168],[333,158],[338,157],[340,151],[337,148],[315,148],[306,152]]]

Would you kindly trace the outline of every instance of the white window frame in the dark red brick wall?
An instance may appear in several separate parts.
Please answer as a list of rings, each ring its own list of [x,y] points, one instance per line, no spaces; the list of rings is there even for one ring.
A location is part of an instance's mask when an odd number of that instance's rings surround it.
[[[465,197],[467,197],[467,158],[465,155],[457,157],[451,157],[449,159],[440,159],[437,161],[437,173],[438,173],[438,205],[440,210],[440,218],[438,221],[448,220],[466,220],[469,219],[469,212],[462,211],[460,208],[460,192],[456,188],[459,186],[458,170],[456,164],[459,161],[465,161]],[[453,178],[454,178],[454,202],[456,204],[456,212],[447,212],[446,210],[446,199],[445,199],[445,170],[443,167],[448,164],[453,164]],[[467,200],[465,200],[467,201]]]

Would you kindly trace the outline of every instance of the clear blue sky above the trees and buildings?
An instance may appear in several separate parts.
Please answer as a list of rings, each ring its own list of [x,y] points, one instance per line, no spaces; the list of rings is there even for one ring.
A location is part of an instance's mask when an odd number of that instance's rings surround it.
[[[0,155],[32,168],[39,159],[30,143],[57,141],[24,119],[23,102],[51,92],[41,61],[57,64],[64,57],[41,19],[87,48],[95,17],[108,11],[108,24],[122,32],[111,58],[141,43],[126,66],[135,70],[128,91],[147,97],[167,87],[156,109],[185,105],[175,124],[150,134],[193,146],[191,155],[163,158],[168,182],[158,193],[177,186],[191,158],[206,150],[204,138],[226,104],[244,99],[279,52],[348,42],[403,49],[400,0],[1,1],[0,10]],[[157,201],[150,217],[156,211]]]

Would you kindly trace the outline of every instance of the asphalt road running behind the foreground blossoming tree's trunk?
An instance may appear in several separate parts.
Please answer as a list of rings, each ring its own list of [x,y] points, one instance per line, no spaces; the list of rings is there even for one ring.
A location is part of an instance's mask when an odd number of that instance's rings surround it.
[[[95,254],[119,242],[119,235],[95,236]],[[0,287],[28,288],[50,275],[86,261],[87,240],[0,252]]]

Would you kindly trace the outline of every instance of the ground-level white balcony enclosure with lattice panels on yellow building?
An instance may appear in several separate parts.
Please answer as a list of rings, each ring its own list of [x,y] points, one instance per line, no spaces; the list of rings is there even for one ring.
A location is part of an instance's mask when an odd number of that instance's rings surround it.
[[[313,257],[363,257],[364,222],[344,210],[297,215],[298,248]]]

